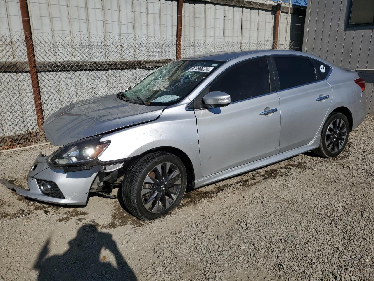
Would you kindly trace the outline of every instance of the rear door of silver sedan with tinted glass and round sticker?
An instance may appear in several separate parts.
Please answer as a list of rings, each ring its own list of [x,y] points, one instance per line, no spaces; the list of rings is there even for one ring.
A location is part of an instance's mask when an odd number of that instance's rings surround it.
[[[332,100],[325,80],[330,67],[303,56],[279,55],[272,60],[281,109],[279,149],[284,152],[307,145],[321,130]]]

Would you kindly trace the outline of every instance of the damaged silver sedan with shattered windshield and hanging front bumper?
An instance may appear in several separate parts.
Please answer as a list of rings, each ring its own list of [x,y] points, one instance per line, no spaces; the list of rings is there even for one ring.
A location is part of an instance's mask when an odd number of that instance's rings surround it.
[[[141,220],[197,188],[314,151],[341,153],[364,119],[365,81],[297,51],[240,51],[173,61],[125,91],[74,103],[45,123],[61,145],[39,155],[18,194],[85,205],[119,187]]]

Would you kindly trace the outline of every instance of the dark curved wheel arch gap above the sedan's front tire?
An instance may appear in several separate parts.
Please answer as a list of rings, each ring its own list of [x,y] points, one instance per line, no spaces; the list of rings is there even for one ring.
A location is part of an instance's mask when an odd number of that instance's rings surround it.
[[[187,172],[187,191],[192,190],[194,188],[194,183],[195,183],[195,172],[194,172],[194,167],[192,164],[192,161],[190,157],[184,152],[183,150],[179,148],[175,148],[173,146],[159,146],[156,148],[148,149],[147,151],[144,151],[141,155],[138,155],[137,157],[132,158],[132,162],[137,161],[139,158],[142,156],[153,153],[153,152],[158,152],[158,151],[165,151],[174,154],[180,160],[183,162],[184,166],[186,167],[186,172]]]

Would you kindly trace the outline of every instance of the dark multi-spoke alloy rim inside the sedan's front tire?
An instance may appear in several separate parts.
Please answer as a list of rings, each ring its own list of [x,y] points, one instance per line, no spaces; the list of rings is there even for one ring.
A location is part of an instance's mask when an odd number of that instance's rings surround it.
[[[169,209],[181,189],[181,173],[173,163],[158,164],[145,177],[141,196],[145,209],[159,213]]]

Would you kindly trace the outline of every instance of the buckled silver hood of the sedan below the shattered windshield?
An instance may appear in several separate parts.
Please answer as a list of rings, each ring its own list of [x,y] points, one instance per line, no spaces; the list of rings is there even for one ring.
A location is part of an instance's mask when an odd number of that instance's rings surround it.
[[[44,123],[53,145],[66,145],[112,130],[157,119],[166,106],[125,102],[116,94],[73,103],[52,114]]]

